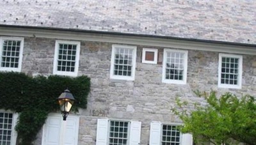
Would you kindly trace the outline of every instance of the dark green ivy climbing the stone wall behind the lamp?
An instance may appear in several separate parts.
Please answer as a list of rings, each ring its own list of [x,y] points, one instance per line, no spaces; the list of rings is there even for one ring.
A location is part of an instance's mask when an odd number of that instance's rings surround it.
[[[0,109],[19,113],[15,126],[21,145],[32,144],[37,132],[42,128],[49,112],[59,111],[58,96],[69,89],[76,99],[72,111],[86,108],[90,92],[90,78],[29,77],[24,73],[0,72]]]

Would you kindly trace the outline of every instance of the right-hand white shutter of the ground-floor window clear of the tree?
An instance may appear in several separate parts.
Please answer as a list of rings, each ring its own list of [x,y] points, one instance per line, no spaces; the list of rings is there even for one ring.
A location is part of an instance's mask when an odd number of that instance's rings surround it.
[[[131,121],[129,145],[140,144],[140,128],[141,128],[140,121]]]

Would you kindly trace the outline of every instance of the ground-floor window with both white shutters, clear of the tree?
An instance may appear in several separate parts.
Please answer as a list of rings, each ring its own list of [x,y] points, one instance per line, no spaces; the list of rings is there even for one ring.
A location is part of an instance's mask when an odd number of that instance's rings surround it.
[[[96,145],[140,144],[141,122],[98,119]]]

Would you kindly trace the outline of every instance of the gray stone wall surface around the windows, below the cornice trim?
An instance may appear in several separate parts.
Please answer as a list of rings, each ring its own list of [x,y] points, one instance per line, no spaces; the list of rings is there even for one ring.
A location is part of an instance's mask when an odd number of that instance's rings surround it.
[[[48,38],[25,38],[22,72],[29,75],[51,75],[54,61],[55,40]],[[159,50],[159,64],[141,63],[143,47],[137,46],[136,72],[134,81],[111,80],[112,43],[81,42],[79,73],[88,75],[92,88],[88,97],[88,108],[79,111],[79,144],[95,144],[98,118],[138,120],[141,125],[141,144],[149,143],[151,121],[180,122],[171,108],[175,97],[189,102],[202,102],[193,90],[218,91],[256,95],[256,57],[243,55],[242,89],[218,88],[218,52],[188,51],[187,84],[164,84],[162,79],[163,49]],[[152,47],[151,47],[152,48]],[[170,46],[172,49],[172,46]],[[40,144],[42,132],[36,144]]]

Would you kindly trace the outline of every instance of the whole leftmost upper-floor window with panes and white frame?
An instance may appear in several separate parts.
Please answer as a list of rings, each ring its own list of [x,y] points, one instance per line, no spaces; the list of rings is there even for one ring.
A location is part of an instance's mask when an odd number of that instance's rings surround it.
[[[24,38],[1,37],[0,70],[21,71]]]

